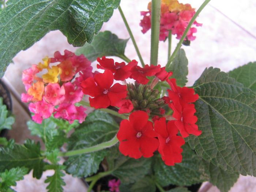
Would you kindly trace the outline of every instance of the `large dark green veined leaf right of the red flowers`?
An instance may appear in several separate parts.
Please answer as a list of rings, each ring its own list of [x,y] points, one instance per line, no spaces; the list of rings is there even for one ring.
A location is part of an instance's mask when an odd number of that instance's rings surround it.
[[[194,84],[197,125],[188,137],[196,153],[223,170],[256,176],[256,94],[217,68],[205,69]]]

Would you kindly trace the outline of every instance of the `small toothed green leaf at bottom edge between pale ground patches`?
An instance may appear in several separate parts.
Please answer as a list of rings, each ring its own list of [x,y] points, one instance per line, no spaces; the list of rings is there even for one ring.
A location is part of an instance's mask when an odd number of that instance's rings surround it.
[[[64,176],[65,174],[60,169],[55,170],[52,176],[47,176],[45,183],[49,182],[49,185],[46,187],[48,192],[63,192],[62,186],[66,185],[62,178]]]

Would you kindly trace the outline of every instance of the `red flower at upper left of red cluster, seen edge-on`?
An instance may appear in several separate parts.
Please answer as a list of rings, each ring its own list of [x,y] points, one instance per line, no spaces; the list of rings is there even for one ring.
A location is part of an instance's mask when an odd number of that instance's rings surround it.
[[[132,74],[129,70],[135,65],[138,64],[136,60],[132,60],[127,65],[125,65],[124,62],[122,63],[114,63],[113,59],[107,59],[105,56],[102,57],[102,59],[97,59],[99,64],[97,64],[98,69],[108,69],[114,74],[115,80],[125,80],[128,79],[129,76]]]

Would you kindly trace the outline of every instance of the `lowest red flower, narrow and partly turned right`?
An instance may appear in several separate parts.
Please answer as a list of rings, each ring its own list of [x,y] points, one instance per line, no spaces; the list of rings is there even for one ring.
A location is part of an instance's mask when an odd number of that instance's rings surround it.
[[[158,133],[158,151],[166,165],[174,165],[182,160],[182,148],[185,141],[181,136],[177,136],[178,128],[174,124],[175,120],[168,121],[164,117],[155,121],[154,129]]]

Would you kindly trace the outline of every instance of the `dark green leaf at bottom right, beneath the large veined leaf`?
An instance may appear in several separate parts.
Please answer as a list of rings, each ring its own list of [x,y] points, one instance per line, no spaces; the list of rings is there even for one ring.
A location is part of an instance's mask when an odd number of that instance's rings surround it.
[[[223,171],[220,167],[208,163],[211,184],[217,186],[221,192],[228,192],[237,182],[238,174]]]

